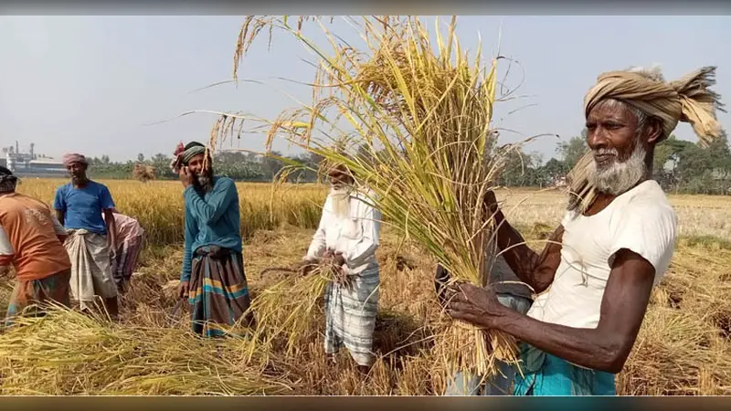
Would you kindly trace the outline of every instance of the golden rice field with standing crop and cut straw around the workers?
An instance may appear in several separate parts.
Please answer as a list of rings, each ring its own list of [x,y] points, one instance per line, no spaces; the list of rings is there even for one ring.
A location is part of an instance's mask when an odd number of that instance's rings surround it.
[[[61,180],[26,180],[18,190],[52,203]],[[381,294],[378,360],[367,378],[347,354],[323,356],[322,312],[296,353],[281,344],[231,338],[200,341],[175,311],[182,259],[183,198],[176,182],[102,182],[117,207],[140,220],[147,247],[122,300],[122,322],[54,311],[0,335],[0,394],[435,395],[443,375],[430,360],[433,259],[384,227],[377,252]],[[252,295],[281,281],[260,275],[302,258],[317,226],[322,185],[238,184],[244,258]],[[508,219],[534,248],[556,227],[557,191],[502,190]],[[618,376],[620,395],[731,395],[731,197],[671,195],[680,239],[670,271],[652,292],[640,337]],[[0,281],[4,313],[12,280]],[[292,301],[282,301],[286,311]],[[184,304],[185,305],[185,304]],[[286,335],[281,337],[286,338]]]

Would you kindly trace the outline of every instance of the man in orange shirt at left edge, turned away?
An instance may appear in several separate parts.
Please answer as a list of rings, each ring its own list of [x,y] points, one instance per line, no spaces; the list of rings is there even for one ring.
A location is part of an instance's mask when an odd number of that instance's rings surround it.
[[[71,261],[66,230],[47,205],[16,193],[17,177],[0,166],[0,272],[12,264],[16,287],[6,325],[26,307],[55,301],[69,306]]]

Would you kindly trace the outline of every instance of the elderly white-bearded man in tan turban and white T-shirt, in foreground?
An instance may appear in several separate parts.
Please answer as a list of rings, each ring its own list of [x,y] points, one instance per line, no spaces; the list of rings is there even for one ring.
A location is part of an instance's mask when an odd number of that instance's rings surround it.
[[[678,121],[703,139],[722,133],[719,96],[708,90],[715,68],[665,82],[659,70],[599,76],[585,99],[591,157],[572,172],[574,195],[543,252],[524,245],[495,205],[498,246],[538,296],[522,314],[493,290],[451,286],[453,318],[521,341],[514,395],[615,395],[640,331],[653,286],[673,257],[677,218],[652,180],[655,146]],[[496,204],[488,195],[487,204]]]

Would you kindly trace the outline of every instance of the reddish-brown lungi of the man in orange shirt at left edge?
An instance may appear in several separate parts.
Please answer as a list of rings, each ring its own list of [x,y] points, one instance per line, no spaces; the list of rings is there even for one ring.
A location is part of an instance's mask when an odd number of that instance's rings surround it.
[[[13,318],[17,315],[27,314],[23,311],[34,304],[58,303],[69,307],[69,279],[71,279],[71,271],[67,269],[44,279],[18,280],[7,306],[5,326],[12,325]],[[41,310],[34,310],[29,314],[42,315],[43,307],[36,308]]]

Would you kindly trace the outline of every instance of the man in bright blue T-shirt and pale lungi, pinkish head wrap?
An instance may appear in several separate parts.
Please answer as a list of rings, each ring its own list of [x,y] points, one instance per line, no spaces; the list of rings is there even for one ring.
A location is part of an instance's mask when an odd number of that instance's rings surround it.
[[[87,177],[89,163],[83,155],[67,154],[64,164],[71,183],[58,187],[53,207],[58,221],[69,231],[65,246],[71,258],[71,295],[81,310],[90,309],[97,296],[101,297],[116,319],[117,287],[111,273],[111,253],[117,242],[111,214],[114,202],[104,184]]]

